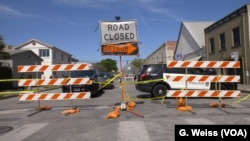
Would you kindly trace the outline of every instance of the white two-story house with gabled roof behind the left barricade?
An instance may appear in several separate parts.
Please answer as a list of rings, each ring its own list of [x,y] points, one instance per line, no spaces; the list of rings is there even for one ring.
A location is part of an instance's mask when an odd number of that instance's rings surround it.
[[[72,58],[72,55],[55,47],[48,45],[36,39],[31,39],[24,44],[16,47],[17,50],[31,50],[37,54],[43,60],[41,65],[52,65],[52,64],[69,64],[77,62],[76,59]],[[34,64],[35,65],[35,64]],[[62,77],[65,72],[53,72],[47,70],[44,72],[42,78],[50,77]]]

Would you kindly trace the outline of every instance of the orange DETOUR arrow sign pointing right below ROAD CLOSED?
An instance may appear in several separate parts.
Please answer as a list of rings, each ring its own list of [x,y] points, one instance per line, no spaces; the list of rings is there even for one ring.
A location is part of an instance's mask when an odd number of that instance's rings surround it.
[[[102,45],[103,55],[137,55],[137,43]]]

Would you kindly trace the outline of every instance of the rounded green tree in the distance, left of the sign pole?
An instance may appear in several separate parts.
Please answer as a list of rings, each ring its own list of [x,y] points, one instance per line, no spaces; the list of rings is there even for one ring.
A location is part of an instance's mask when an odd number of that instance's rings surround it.
[[[109,72],[113,72],[113,71],[117,71],[117,64],[116,64],[116,60],[107,58],[104,60],[101,60],[101,62],[98,65],[98,68],[100,71],[109,71]]]

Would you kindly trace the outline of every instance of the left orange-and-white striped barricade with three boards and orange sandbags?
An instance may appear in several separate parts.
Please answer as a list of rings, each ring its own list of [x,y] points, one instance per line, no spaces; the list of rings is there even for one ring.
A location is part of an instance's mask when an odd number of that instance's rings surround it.
[[[92,66],[88,63],[79,64],[54,64],[54,65],[26,65],[18,66],[18,72],[44,72],[51,71],[78,71],[88,70]],[[89,78],[50,78],[50,79],[20,79],[18,86],[31,87],[31,86],[61,86],[61,85],[81,85],[92,84]],[[63,115],[80,112],[78,107],[73,108],[72,100],[74,99],[90,99],[90,92],[68,92],[68,93],[41,93],[39,90],[36,93],[20,93],[19,101],[38,101],[38,111],[50,110],[49,105],[41,106],[42,100],[71,100],[71,109],[64,110]]]

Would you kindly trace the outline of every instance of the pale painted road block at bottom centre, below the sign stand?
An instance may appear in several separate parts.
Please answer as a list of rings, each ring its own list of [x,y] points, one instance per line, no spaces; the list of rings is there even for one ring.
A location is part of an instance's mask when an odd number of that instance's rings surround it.
[[[142,121],[121,121],[117,133],[118,141],[151,141]]]

